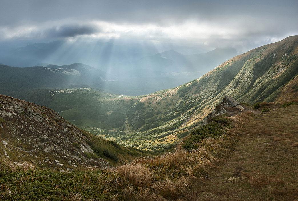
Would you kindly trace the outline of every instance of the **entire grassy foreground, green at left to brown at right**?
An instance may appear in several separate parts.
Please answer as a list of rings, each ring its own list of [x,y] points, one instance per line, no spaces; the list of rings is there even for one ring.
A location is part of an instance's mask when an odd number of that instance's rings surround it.
[[[233,117],[217,118],[211,125],[193,131],[172,153],[139,157],[107,170],[86,168],[62,173],[35,168],[30,162],[18,166],[2,158],[0,198],[297,199],[298,107],[265,107],[270,108],[265,114],[261,106]],[[191,140],[195,146],[191,146]]]

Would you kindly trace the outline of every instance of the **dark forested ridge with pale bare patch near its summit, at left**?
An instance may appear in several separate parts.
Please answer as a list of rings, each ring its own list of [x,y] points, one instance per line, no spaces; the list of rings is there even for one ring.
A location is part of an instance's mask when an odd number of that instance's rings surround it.
[[[93,87],[102,89],[106,73],[85,64],[47,67],[10,67],[0,65],[0,93],[29,89]]]

